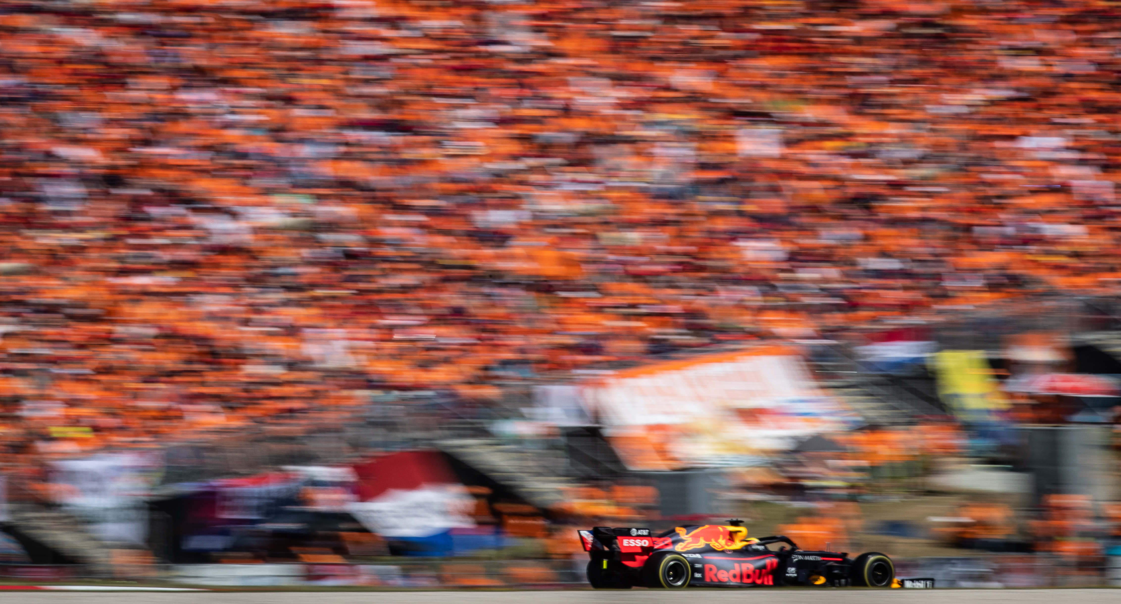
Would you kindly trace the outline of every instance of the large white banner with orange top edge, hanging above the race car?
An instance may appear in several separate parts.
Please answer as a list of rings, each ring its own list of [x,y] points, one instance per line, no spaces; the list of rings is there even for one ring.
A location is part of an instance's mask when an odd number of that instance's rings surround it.
[[[752,465],[858,420],[778,346],[623,370],[582,393],[632,470]]]

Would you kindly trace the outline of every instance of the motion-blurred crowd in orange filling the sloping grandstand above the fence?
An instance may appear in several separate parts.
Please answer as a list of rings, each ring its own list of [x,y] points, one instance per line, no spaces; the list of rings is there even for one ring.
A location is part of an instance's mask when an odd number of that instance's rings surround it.
[[[10,459],[1112,287],[1099,2],[0,2]]]

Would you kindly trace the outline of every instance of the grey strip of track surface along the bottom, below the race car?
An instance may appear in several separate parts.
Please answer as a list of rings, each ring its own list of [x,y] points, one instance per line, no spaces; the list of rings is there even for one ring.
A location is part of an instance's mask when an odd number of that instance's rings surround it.
[[[754,596],[782,604],[1114,604],[1121,589],[692,589],[634,592],[257,592],[6,593],[0,603],[31,604],[744,604]]]

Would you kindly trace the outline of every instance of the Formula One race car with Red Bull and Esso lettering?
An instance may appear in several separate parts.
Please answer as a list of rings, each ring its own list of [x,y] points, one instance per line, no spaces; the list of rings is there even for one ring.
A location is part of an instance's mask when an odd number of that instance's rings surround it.
[[[899,587],[891,559],[876,551],[850,558],[845,552],[806,551],[790,539],[748,539],[739,520],[728,526],[676,527],[660,535],[649,529],[595,527],[580,540],[591,556],[587,582],[596,589],[633,586],[758,587],[771,585]],[[786,543],[777,550],[768,546]],[[908,587],[933,587],[933,579],[909,579]]]

